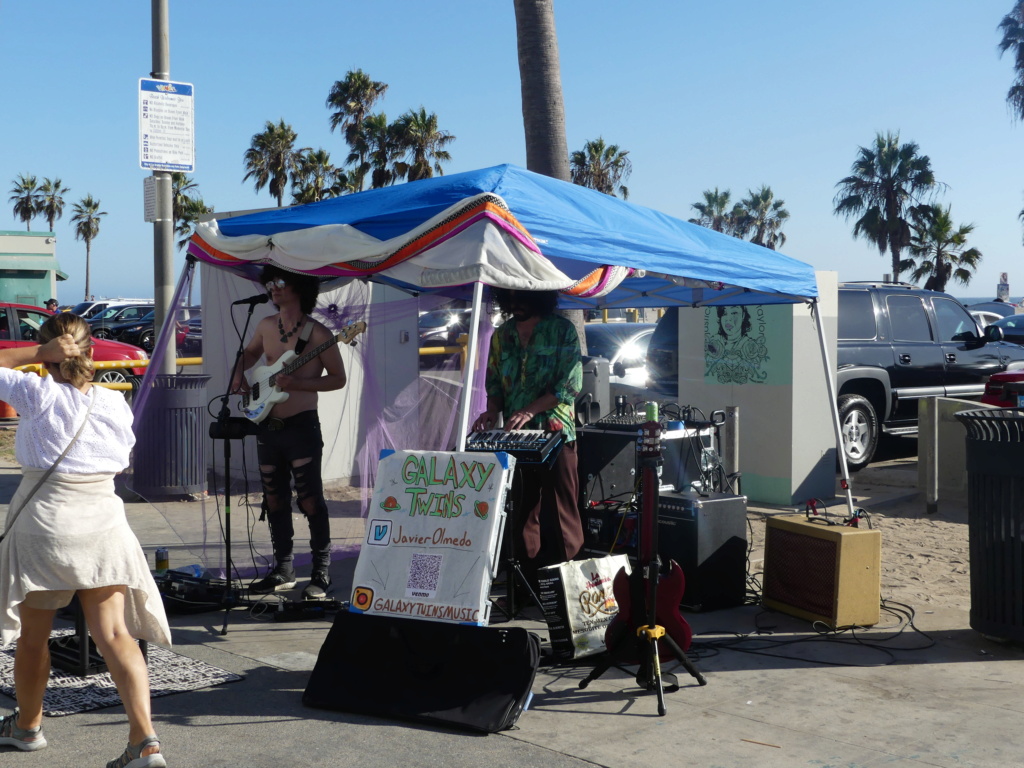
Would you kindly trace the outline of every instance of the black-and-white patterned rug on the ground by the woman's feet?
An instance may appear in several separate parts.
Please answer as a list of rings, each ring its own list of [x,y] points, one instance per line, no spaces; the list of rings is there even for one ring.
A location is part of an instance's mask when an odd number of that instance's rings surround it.
[[[51,637],[73,635],[74,632],[71,629],[54,630]],[[159,645],[151,644],[147,652],[150,689],[154,698],[243,679],[241,675],[182,656]],[[14,697],[14,644],[0,649],[0,692]],[[121,697],[110,673],[78,677],[54,669],[50,670],[43,714],[46,717],[63,717],[120,703]]]

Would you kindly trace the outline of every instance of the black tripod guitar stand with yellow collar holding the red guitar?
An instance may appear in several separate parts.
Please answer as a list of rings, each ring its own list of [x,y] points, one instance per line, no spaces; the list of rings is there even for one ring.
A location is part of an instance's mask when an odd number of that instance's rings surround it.
[[[662,659],[658,652],[658,641],[664,642],[683,668],[697,681],[707,685],[708,681],[693,665],[679,643],[657,623],[657,588],[662,578],[662,559],[657,554],[657,488],[658,467],[662,465],[660,426],[656,423],[657,416],[648,412],[648,422],[642,427],[643,437],[639,441],[639,456],[642,473],[643,529],[641,532],[639,555],[643,563],[643,575],[636,572],[628,577],[629,597],[634,606],[645,606],[646,611],[633,611],[630,614],[630,626],[620,634],[607,649],[607,657],[598,664],[590,674],[580,681],[580,688],[586,688],[594,680],[607,672],[612,666],[623,669],[626,666],[638,664],[636,674],[637,685],[657,694],[657,714],[665,716],[666,692],[679,690],[679,681],[675,675],[662,673]],[[673,563],[671,567],[679,566]],[[681,572],[681,571],[680,571]],[[616,577],[625,577],[621,571]],[[644,583],[646,582],[646,594]],[[678,605],[675,606],[678,610]],[[640,621],[645,622],[640,624]],[[688,637],[687,632],[687,637]]]

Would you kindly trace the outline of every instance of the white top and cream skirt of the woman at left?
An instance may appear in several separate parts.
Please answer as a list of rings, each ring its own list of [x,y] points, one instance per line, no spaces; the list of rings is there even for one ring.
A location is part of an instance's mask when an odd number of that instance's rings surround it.
[[[18,414],[14,451],[24,477],[6,525],[71,442],[95,397],[89,423],[46,483],[29,500],[0,543],[0,644],[20,632],[27,593],[124,585],[125,623],[133,637],[170,645],[163,600],[145,554],[114,492],[129,464],[132,413],[120,392],[82,393],[52,377],[0,369],[0,400]]]

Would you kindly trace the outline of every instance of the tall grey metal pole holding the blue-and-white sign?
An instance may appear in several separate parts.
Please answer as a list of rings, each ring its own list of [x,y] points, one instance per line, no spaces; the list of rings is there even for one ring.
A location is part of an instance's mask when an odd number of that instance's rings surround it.
[[[170,14],[167,0],[152,0],[153,72],[155,80],[171,79]],[[154,171],[157,194],[156,219],[153,224],[153,299],[156,310],[154,338],[159,338],[164,324],[173,322],[174,308],[174,194],[170,171]],[[173,374],[175,353],[171,347],[158,373]]]

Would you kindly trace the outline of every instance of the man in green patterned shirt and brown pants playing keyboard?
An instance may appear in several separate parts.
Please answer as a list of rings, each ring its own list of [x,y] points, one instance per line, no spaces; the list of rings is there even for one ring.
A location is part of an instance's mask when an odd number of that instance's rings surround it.
[[[473,431],[504,428],[560,431],[564,444],[550,465],[516,465],[513,519],[522,569],[537,589],[537,569],[571,560],[583,547],[578,503],[575,398],[583,387],[580,338],[555,313],[556,291],[493,289],[508,319],[490,340],[487,410]]]

